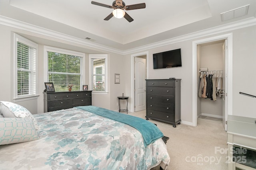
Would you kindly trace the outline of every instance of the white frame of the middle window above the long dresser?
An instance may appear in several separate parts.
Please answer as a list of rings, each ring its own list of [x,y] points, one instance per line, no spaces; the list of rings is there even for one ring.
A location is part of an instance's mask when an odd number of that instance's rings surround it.
[[[82,80],[80,80],[80,90],[82,90],[82,85],[85,83],[85,53],[81,53],[78,51],[71,51],[67,49],[61,49],[61,48],[56,48],[56,47],[50,47],[50,46],[44,46],[44,82],[48,82],[48,51],[51,52],[56,52],[56,53],[62,53],[62,54],[67,54],[67,55],[74,55],[78,57],[82,57]],[[68,90],[68,89],[67,89]]]

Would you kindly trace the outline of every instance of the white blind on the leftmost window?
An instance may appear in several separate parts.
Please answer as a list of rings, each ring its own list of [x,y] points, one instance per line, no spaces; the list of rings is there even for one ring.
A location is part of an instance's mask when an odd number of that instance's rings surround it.
[[[17,97],[36,95],[36,49],[17,41]]]

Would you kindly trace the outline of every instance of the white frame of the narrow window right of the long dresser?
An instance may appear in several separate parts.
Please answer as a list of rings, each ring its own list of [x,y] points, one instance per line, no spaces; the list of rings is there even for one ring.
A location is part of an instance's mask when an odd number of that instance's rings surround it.
[[[105,91],[92,91],[94,94],[108,94],[108,55],[107,54],[89,54],[89,89],[92,89],[92,59],[105,59]]]

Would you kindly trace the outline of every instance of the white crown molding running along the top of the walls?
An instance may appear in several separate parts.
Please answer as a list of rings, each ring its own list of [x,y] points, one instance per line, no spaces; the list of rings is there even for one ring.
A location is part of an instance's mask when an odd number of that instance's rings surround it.
[[[194,32],[194,33],[181,35],[181,36],[174,37],[174,38],[171,38],[171,39],[166,39],[166,40],[163,40],[163,41],[159,41],[159,42],[156,42],[156,43],[151,43],[151,44],[148,44],[148,45],[143,45],[143,46],[140,46],[140,47],[136,47],[136,48],[129,49],[129,50],[124,50],[124,51],[119,50],[119,49],[115,49],[115,48],[112,48],[112,47],[108,47],[108,46],[105,46],[105,45],[101,45],[101,44],[98,44],[98,43],[88,42],[84,39],[73,37],[73,36],[70,36],[70,35],[67,35],[67,34],[64,34],[64,33],[59,33],[57,31],[52,31],[50,29],[46,29],[46,28],[43,28],[43,27],[38,27],[36,25],[32,25],[32,24],[25,23],[25,22],[22,22],[22,21],[14,20],[12,18],[8,18],[8,17],[1,16],[1,15],[0,15],[0,24],[10,26],[10,27],[14,27],[14,28],[18,28],[18,29],[22,29],[22,30],[25,30],[25,31],[30,31],[32,33],[37,33],[37,34],[48,36],[48,37],[53,37],[53,38],[60,39],[60,40],[63,40],[63,41],[70,41],[72,43],[76,43],[76,44],[79,44],[79,45],[84,45],[86,47],[94,48],[94,49],[100,50],[100,51],[103,50],[103,51],[108,51],[108,52],[111,52],[111,53],[117,53],[117,54],[120,54],[120,55],[127,55],[127,54],[131,54],[131,53],[138,53],[140,51],[146,51],[146,50],[157,48],[157,47],[162,47],[162,46],[165,46],[165,45],[179,43],[179,42],[182,42],[182,41],[188,41],[188,40],[191,40],[191,39],[197,39],[197,38],[200,38],[200,37],[205,37],[205,36],[209,36],[209,35],[214,35],[214,34],[223,33],[223,32],[226,32],[226,31],[232,31],[232,30],[235,30],[235,29],[240,29],[240,28],[243,28],[243,27],[249,27],[249,26],[252,26],[252,25],[256,25],[256,18],[251,17],[251,18],[248,18],[248,19],[235,21],[235,22],[232,22],[232,23],[212,27],[212,28],[209,28],[209,29],[204,29],[204,30],[197,31],[197,32]]]

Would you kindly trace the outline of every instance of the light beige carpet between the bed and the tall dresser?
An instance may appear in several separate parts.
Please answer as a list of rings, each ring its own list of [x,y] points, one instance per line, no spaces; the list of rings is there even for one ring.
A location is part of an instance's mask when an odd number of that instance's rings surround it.
[[[146,111],[128,113],[145,119]],[[227,132],[222,119],[201,116],[197,126],[176,125],[149,119],[164,136],[170,155],[168,170],[228,170]],[[151,170],[159,170],[159,166]]]

